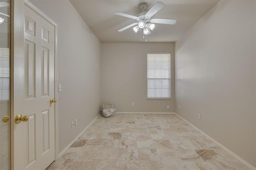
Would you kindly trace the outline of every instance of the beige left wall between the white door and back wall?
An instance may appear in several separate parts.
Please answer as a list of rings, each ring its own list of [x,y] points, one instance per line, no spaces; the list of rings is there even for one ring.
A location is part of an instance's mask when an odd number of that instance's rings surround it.
[[[98,115],[100,41],[68,0],[31,0],[58,24],[59,152]],[[96,69],[96,64],[99,68]],[[71,121],[78,125],[71,128]]]

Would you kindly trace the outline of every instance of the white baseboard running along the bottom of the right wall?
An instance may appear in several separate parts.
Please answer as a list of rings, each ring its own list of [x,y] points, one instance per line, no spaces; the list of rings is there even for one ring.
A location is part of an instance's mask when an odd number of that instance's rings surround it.
[[[225,150],[226,152],[228,152],[231,156],[233,156],[234,158],[236,158],[237,160],[239,160],[240,162],[242,162],[243,164],[245,164],[248,168],[250,168],[251,170],[256,170],[256,168],[254,166],[252,166],[250,163],[246,162],[244,159],[240,158],[237,154],[235,154],[234,152],[232,152],[231,150],[229,150],[228,148],[224,147],[223,145],[221,145],[220,143],[218,143],[217,141],[215,141],[212,137],[210,137],[209,135],[207,135],[206,133],[204,133],[203,131],[201,131],[200,129],[198,129],[197,127],[195,127],[194,125],[192,125],[190,122],[188,122],[186,119],[184,119],[183,117],[181,117],[180,115],[176,114],[178,117],[180,117],[180,119],[182,119],[183,121],[185,121],[186,123],[188,123],[190,126],[194,127],[194,129],[196,129],[197,131],[199,131],[200,133],[202,133],[202,135],[204,135],[205,137],[207,137],[208,139],[210,139],[212,142],[214,142],[216,145],[218,145],[220,148],[222,148],[223,150]]]

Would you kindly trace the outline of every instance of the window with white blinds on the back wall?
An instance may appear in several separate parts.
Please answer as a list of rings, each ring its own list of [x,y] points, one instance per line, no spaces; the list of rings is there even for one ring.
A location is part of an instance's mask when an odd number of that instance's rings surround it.
[[[170,53],[148,53],[148,99],[171,98]]]

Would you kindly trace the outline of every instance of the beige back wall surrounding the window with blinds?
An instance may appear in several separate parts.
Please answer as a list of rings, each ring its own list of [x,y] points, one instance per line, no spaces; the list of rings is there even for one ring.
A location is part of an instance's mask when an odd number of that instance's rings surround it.
[[[147,52],[171,53],[172,100],[146,100]],[[101,66],[102,103],[114,102],[118,112],[175,111],[174,43],[102,43]]]

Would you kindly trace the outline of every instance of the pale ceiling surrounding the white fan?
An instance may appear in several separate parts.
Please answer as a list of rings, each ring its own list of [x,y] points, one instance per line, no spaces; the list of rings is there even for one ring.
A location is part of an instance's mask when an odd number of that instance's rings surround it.
[[[196,21],[220,0],[158,0],[165,4],[152,18],[175,19],[175,25],[156,24],[147,42],[175,42]],[[118,32],[136,20],[117,16],[123,12],[133,16],[142,13],[140,4],[146,3],[147,12],[157,0],[70,0],[93,33],[102,43],[139,43],[145,42],[143,32],[135,33],[131,28]],[[152,19],[151,18],[151,19]]]

